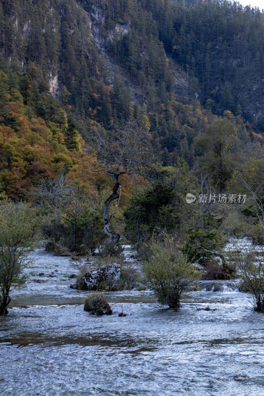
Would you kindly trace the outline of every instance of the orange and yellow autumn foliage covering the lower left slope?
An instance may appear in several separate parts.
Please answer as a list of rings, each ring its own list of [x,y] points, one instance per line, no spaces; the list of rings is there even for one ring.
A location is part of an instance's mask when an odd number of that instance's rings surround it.
[[[77,159],[63,145],[61,132],[53,142],[53,133],[43,119],[30,119],[21,103],[10,102],[8,106],[19,127],[14,130],[12,124],[0,125],[0,191],[20,199],[36,180],[69,171]]]

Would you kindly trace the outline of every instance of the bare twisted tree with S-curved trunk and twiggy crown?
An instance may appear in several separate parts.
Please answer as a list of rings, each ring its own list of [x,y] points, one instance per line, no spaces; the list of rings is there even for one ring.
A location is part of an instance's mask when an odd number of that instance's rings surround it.
[[[88,148],[94,158],[93,171],[105,171],[114,182],[111,195],[104,202],[104,231],[110,245],[116,245],[120,235],[113,229],[110,203],[120,198],[119,177],[124,174],[146,175],[153,166],[153,154],[148,131],[141,128],[135,120],[129,120],[124,127],[114,125],[106,131],[95,129],[92,133],[92,146]],[[119,190],[119,191],[118,191]]]

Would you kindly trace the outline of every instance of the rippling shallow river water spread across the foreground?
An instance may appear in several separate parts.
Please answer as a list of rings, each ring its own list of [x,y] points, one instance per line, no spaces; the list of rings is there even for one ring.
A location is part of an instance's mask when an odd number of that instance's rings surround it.
[[[0,318],[0,395],[264,396],[264,315],[247,294],[194,292],[175,312],[112,292],[113,315],[93,316],[68,258],[40,251],[30,271]]]

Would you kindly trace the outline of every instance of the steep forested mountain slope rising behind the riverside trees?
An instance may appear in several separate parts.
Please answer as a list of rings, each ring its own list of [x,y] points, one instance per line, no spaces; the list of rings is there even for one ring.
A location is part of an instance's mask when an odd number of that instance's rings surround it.
[[[32,147],[45,142],[60,159],[44,166],[23,154],[21,162],[1,146],[0,172],[10,172],[0,175],[1,189],[10,175],[26,189],[61,168],[55,163],[68,171],[66,157],[77,158],[80,136],[89,142],[94,126],[109,129],[129,117],[149,130],[163,165],[181,155],[193,165],[193,140],[217,116],[236,124],[244,144],[262,141],[263,66],[264,14],[236,3],[3,0],[3,141],[20,139],[21,156],[28,144],[21,126],[34,132],[37,123],[48,130],[35,135]],[[23,196],[15,186],[10,196]]]

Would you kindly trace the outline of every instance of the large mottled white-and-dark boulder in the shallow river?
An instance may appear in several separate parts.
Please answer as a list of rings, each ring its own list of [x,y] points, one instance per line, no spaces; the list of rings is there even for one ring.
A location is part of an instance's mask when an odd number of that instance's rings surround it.
[[[80,281],[81,290],[97,290],[101,283],[118,282],[121,278],[120,265],[113,263],[103,265],[98,270],[87,272]]]

